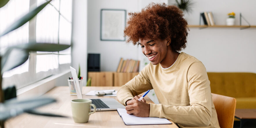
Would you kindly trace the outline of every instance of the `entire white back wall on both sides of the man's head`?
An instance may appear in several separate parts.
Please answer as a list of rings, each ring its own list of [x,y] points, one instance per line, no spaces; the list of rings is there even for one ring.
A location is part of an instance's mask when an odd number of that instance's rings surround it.
[[[87,49],[88,53],[101,54],[101,71],[115,71],[121,57],[140,59],[141,61],[145,57],[142,55],[140,47],[119,41],[100,41],[100,9],[126,9],[128,13],[141,10],[149,2],[151,1],[88,1]],[[158,1],[155,0],[155,2]],[[256,8],[253,6],[256,5],[256,1],[193,0],[193,2],[195,3],[193,11],[189,14],[185,13],[185,18],[191,25],[199,24],[199,14],[203,11],[212,11],[218,25],[225,25],[227,13],[232,11],[237,14],[236,25],[239,25],[239,12],[251,25],[256,25],[256,17],[252,14],[256,12]],[[173,4],[175,0],[168,0],[166,3]],[[246,22],[243,21],[242,24],[246,25]],[[256,29],[207,28],[199,30],[191,28],[187,48],[183,51],[202,61],[208,72],[256,72],[255,33]]]

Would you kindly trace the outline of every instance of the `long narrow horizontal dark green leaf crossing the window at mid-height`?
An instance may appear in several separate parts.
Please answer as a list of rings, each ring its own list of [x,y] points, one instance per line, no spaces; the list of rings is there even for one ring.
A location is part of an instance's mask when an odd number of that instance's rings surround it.
[[[50,43],[29,43],[13,46],[13,48],[26,49],[29,51],[62,51],[69,47],[70,45],[58,45]]]

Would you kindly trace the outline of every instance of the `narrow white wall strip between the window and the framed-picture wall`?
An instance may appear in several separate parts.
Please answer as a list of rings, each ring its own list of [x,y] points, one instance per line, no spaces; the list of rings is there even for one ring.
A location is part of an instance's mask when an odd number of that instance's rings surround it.
[[[72,67],[87,78],[87,0],[74,0],[72,8]],[[70,76],[71,77],[71,76]],[[86,82],[83,83],[85,85]]]

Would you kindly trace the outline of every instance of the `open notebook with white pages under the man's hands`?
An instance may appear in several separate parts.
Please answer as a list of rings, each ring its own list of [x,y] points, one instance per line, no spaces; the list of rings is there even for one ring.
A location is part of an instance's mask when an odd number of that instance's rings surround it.
[[[157,117],[137,117],[126,113],[125,109],[117,109],[118,114],[122,117],[125,125],[159,125],[172,124],[166,118]]]

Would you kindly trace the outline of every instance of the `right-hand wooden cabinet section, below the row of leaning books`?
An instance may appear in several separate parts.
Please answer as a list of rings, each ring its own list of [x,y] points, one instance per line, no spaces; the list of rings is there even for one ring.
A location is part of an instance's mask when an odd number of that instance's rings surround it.
[[[114,72],[114,86],[123,86],[125,85],[125,83],[130,81],[132,78],[134,78],[138,74],[139,74],[138,72],[134,72],[134,73]]]

